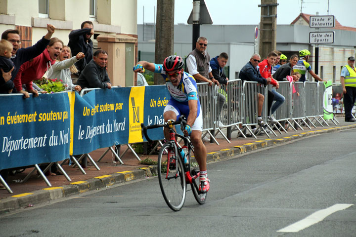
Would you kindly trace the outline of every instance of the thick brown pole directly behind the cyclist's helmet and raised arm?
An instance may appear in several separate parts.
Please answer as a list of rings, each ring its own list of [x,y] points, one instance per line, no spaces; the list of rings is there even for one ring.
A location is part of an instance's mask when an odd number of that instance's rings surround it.
[[[157,0],[157,25],[155,63],[162,64],[163,60],[173,54],[174,49],[174,0]],[[154,84],[164,84],[161,75],[155,74]]]

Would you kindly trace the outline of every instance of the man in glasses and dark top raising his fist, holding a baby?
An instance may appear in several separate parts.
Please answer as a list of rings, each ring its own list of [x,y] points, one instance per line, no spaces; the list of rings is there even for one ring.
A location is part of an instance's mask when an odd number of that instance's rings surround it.
[[[11,87],[10,84],[15,79],[18,70],[23,63],[29,61],[40,55],[44,50],[45,47],[48,45],[49,40],[51,39],[53,33],[55,31],[55,27],[53,25],[47,24],[47,34],[39,40],[35,45],[27,47],[27,48],[20,48],[21,41],[20,41],[20,31],[15,30],[6,30],[1,34],[1,39],[8,40],[12,43],[12,52],[11,52],[11,61],[14,63],[15,68],[12,72],[2,73],[2,77],[9,77],[11,75],[11,82],[7,81],[4,87]],[[16,93],[14,89],[12,93]]]

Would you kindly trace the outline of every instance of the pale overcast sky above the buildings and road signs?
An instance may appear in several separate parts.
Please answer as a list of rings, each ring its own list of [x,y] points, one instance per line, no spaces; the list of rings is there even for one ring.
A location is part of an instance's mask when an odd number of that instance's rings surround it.
[[[261,19],[261,0],[205,0],[214,25],[258,25]],[[277,24],[290,24],[301,11],[301,0],[278,0]],[[329,15],[343,26],[356,27],[356,0],[329,0]],[[154,22],[157,0],[137,0],[137,24]],[[193,0],[175,1],[175,24],[187,24]],[[157,9],[157,7],[156,7]],[[304,0],[303,13],[328,15],[328,0]]]

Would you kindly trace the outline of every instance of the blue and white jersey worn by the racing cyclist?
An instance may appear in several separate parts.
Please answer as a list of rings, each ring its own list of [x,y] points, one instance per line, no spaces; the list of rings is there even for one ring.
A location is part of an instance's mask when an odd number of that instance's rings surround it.
[[[170,79],[166,75],[166,71],[162,64],[155,64],[155,73],[160,73],[166,81],[166,87],[171,94],[171,100],[168,102],[169,105],[175,106],[179,111],[182,112],[186,117],[186,111],[189,111],[188,100],[198,101],[198,114],[200,114],[200,101],[197,96],[198,86],[195,79],[190,74],[183,72],[182,78],[178,86],[174,86]],[[183,106],[182,106],[183,105]],[[184,111],[182,111],[184,108]]]

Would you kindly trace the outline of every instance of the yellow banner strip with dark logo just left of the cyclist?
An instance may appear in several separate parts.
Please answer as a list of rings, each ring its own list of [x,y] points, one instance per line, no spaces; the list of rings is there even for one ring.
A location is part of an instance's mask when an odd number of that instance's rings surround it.
[[[145,86],[131,87],[129,96],[129,143],[142,142],[141,122],[143,122]]]

